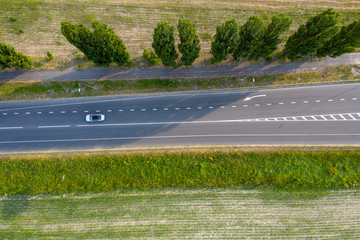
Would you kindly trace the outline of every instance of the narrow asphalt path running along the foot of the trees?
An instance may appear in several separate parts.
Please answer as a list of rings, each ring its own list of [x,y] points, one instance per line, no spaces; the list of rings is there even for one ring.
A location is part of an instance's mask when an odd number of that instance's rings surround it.
[[[360,64],[360,53],[344,54],[336,58],[326,57],[321,61],[232,64],[228,66],[182,67],[182,68],[100,68],[84,70],[42,70],[1,72],[0,81],[27,80],[93,80],[93,79],[149,79],[241,76],[294,71],[314,71],[328,66]]]

